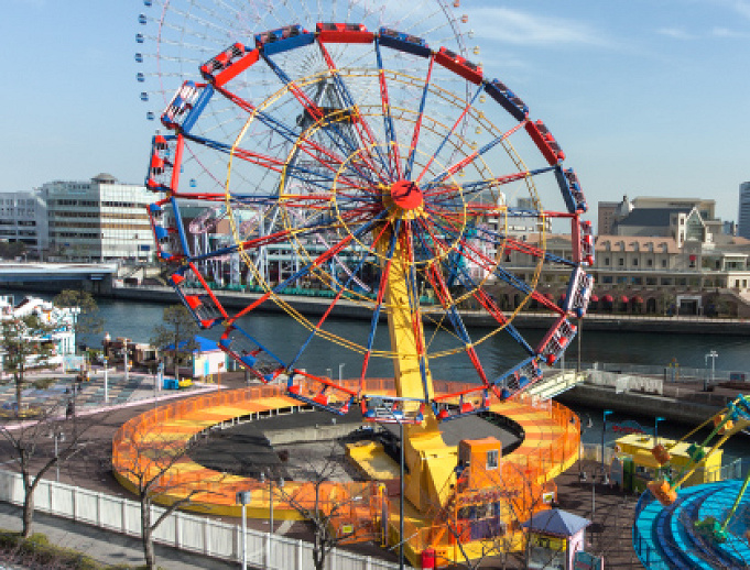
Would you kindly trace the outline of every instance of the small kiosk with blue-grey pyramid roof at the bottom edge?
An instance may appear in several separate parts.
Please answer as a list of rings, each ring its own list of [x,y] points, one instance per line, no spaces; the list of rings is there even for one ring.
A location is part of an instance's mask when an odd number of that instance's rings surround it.
[[[567,511],[552,508],[536,513],[521,526],[529,533],[529,566],[531,569],[574,570],[579,568],[576,553],[584,550],[588,518]],[[602,562],[596,559],[604,568]],[[588,570],[588,569],[587,569]]]

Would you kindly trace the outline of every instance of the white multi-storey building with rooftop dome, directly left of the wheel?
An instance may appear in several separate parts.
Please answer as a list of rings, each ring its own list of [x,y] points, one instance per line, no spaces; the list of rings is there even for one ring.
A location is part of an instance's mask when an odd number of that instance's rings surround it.
[[[58,256],[85,261],[149,261],[153,234],[144,186],[119,183],[109,174],[89,182],[51,182],[39,194],[46,202],[50,248]]]

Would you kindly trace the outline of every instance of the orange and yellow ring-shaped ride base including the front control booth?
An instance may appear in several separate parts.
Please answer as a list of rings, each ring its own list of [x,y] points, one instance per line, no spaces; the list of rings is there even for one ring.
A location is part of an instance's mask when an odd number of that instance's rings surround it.
[[[460,388],[458,383],[435,382],[436,394],[450,394]],[[392,380],[368,380],[367,390],[372,394],[392,395],[395,388]],[[283,387],[265,385],[221,391],[149,410],[118,430],[112,442],[115,474],[134,492],[139,476],[159,475],[170,457],[192,438],[202,437],[222,424],[295,413],[303,407],[283,395]],[[523,513],[532,506],[534,511],[544,508],[545,493],[550,496],[552,489],[550,482],[577,459],[578,418],[567,408],[526,396],[494,402],[490,408],[518,423],[525,432],[524,439],[512,453],[499,458],[497,469],[465,469],[456,487],[448,492],[445,506],[419,512],[406,503],[405,552],[415,566],[427,548],[436,551],[439,564],[464,560],[459,544],[470,557],[478,556],[478,549],[487,540],[496,544],[501,540],[508,550],[518,548]],[[331,482],[325,486],[323,504],[339,507],[331,517],[331,526],[344,541],[379,540],[383,545],[398,545],[398,463],[365,446],[350,448],[349,454],[370,481]],[[162,504],[192,494],[187,509],[240,517],[236,493],[248,490],[252,500],[247,514],[251,518],[268,518],[272,500],[276,519],[302,519],[298,507],[311,507],[315,502],[314,485],[309,482],[287,481],[283,491],[270,491],[268,483],[219,473],[188,457],[161,473],[155,493]],[[291,505],[292,498],[296,507]]]

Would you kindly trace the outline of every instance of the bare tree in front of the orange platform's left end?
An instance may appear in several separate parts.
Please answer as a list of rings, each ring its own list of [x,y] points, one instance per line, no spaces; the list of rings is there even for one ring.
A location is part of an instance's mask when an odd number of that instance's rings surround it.
[[[156,568],[153,536],[159,526],[177,508],[193,502],[196,495],[218,493],[224,475],[211,481],[187,483],[177,467],[204,439],[189,439],[157,431],[150,421],[128,423],[115,437],[112,464],[120,481],[138,495],[141,507],[141,539],[146,568]],[[167,505],[154,518],[153,505]]]

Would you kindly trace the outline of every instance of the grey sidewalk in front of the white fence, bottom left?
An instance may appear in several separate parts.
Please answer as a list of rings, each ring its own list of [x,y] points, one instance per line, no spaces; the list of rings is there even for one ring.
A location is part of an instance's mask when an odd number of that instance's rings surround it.
[[[0,528],[21,530],[21,507],[0,503]],[[108,533],[83,523],[34,513],[34,533],[47,536],[51,544],[72,548],[98,562],[107,564],[143,564],[143,547],[138,538]],[[165,570],[236,570],[239,563],[222,562],[214,558],[154,545],[156,563]],[[253,568],[253,567],[250,567]]]

